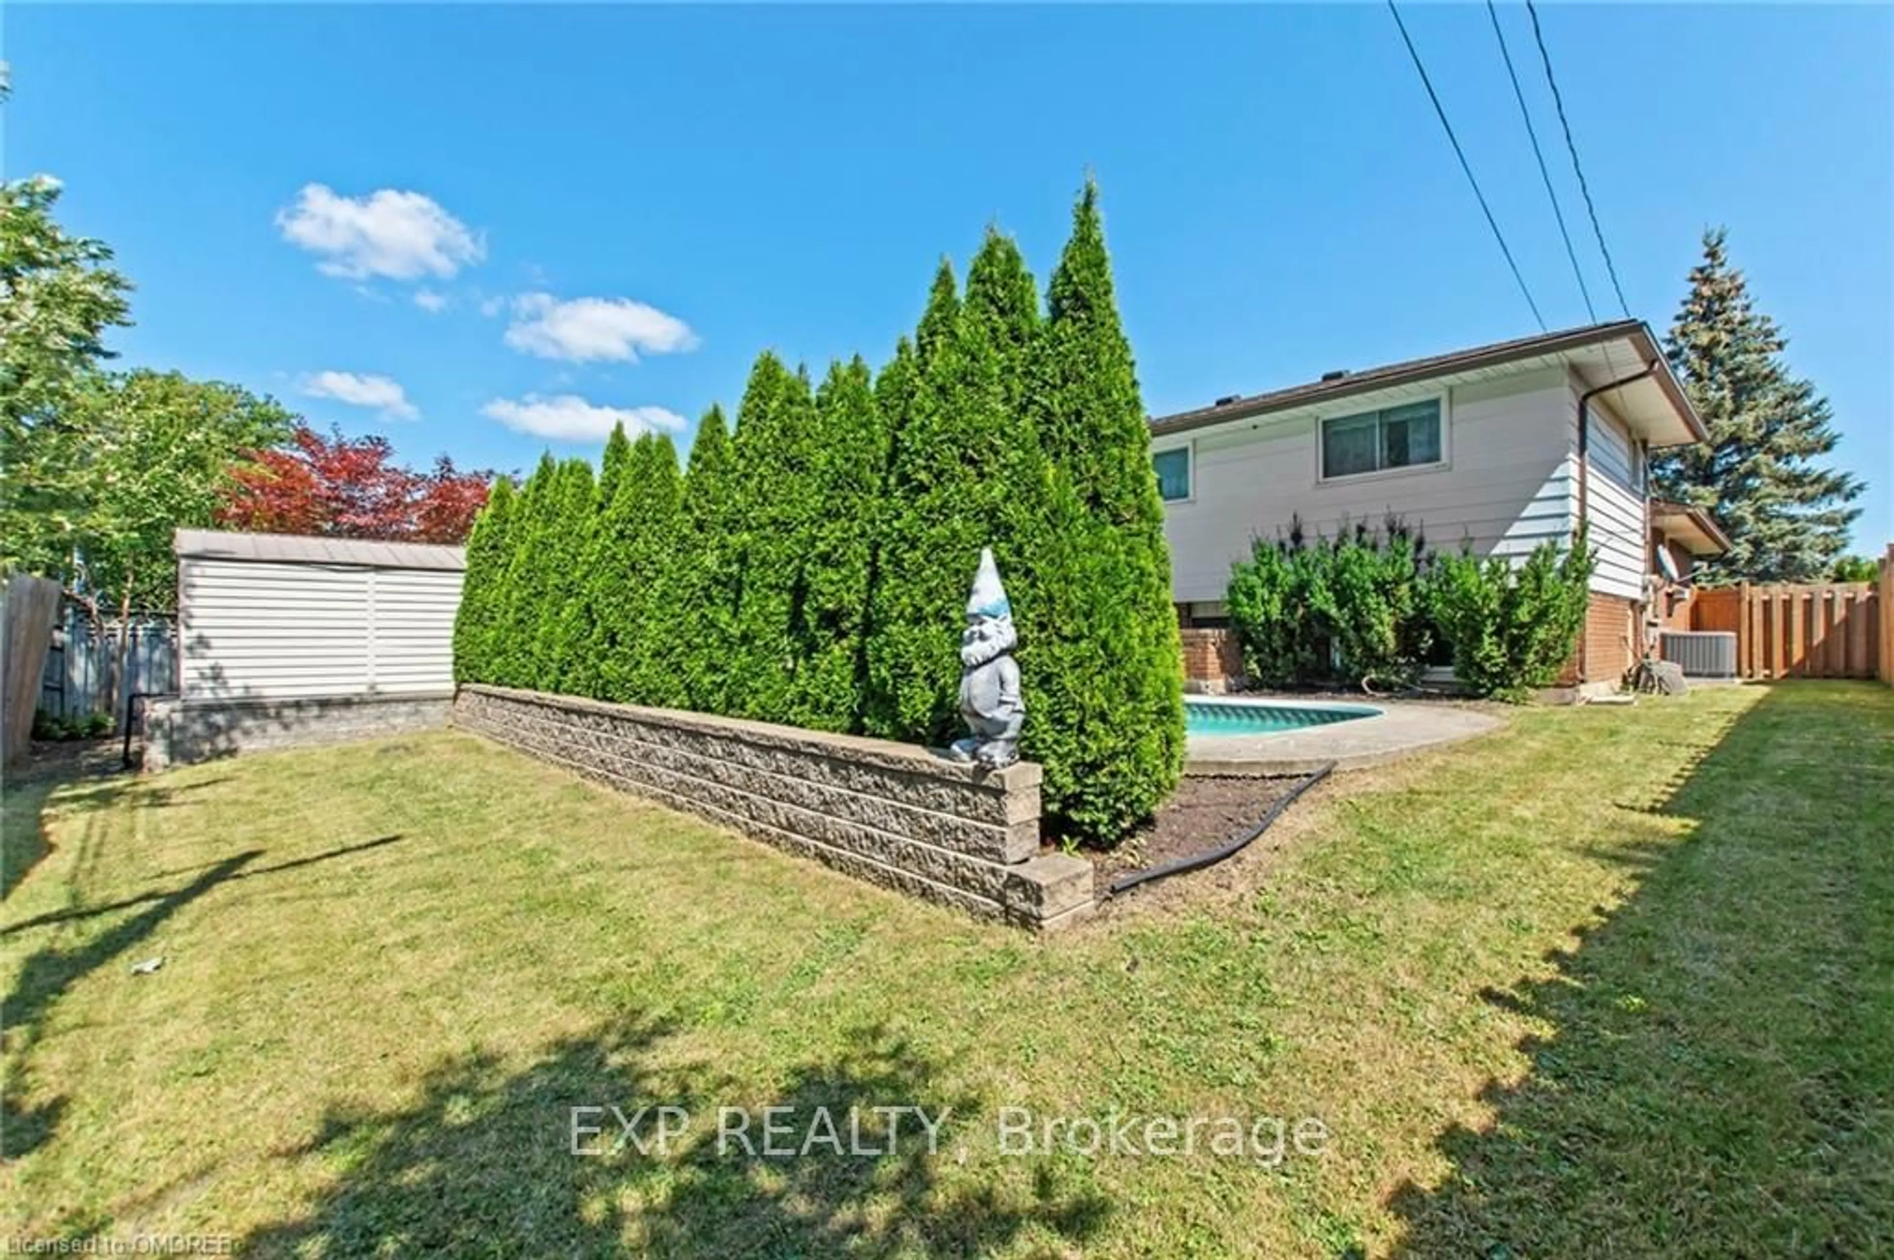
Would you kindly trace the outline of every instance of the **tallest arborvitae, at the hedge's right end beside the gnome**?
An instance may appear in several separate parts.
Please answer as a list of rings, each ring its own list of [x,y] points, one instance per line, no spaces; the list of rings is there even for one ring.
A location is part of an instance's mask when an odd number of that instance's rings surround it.
[[[1034,371],[1051,464],[1034,582],[1045,603],[1023,750],[1045,767],[1053,826],[1114,843],[1182,773],[1184,661],[1144,404],[1091,182],[1047,296]]]

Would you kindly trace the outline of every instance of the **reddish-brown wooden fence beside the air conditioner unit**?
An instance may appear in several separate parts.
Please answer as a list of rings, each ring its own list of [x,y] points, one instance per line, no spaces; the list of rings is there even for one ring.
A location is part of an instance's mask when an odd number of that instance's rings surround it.
[[[1733,631],[1742,678],[1886,678],[1890,568],[1879,582],[1703,589],[1689,627]]]

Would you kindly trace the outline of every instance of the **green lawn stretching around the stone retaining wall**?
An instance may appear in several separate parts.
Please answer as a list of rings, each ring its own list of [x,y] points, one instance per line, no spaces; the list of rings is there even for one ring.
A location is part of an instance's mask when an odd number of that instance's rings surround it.
[[[1871,684],[1523,711],[1047,942],[455,733],[6,803],[6,1235],[1894,1254]],[[572,1107],[646,1103],[689,1112],[665,1152],[570,1152]],[[816,1105],[871,1146],[866,1108],[951,1114],[934,1156],[911,1122],[879,1158],[718,1152],[720,1107],[771,1105],[790,1143]],[[1002,1107],[1328,1139],[1008,1156]]]

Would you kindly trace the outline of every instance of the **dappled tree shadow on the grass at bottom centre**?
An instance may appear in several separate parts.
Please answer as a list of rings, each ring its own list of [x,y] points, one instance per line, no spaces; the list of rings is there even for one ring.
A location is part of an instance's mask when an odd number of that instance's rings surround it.
[[[307,1213],[252,1232],[242,1254],[498,1254],[527,1247],[559,1256],[977,1256],[1032,1230],[1070,1254],[1106,1218],[1089,1192],[1049,1175],[1021,1194],[945,1184],[951,1154],[924,1129],[873,1108],[920,1107],[939,1118],[956,1101],[938,1065],[879,1029],[849,1038],[837,1059],[807,1063],[763,1103],[708,1063],[663,1053],[676,1029],[625,1021],[561,1042],[534,1067],[498,1074],[468,1055],[430,1072],[420,1099],[396,1114],[331,1114],[282,1158],[341,1169]],[[748,1099],[748,1105],[744,1103]],[[610,1110],[633,1118],[621,1139]],[[655,1108],[680,1116],[659,1133]],[[741,1110],[750,1148],[735,1141]],[[841,1148],[765,1154],[765,1107],[805,1137],[828,1108]],[[849,1127],[858,1118],[860,1137]],[[593,1131],[597,1129],[597,1133]],[[722,1133],[722,1137],[720,1137]],[[943,1135],[945,1143],[945,1135]]]

